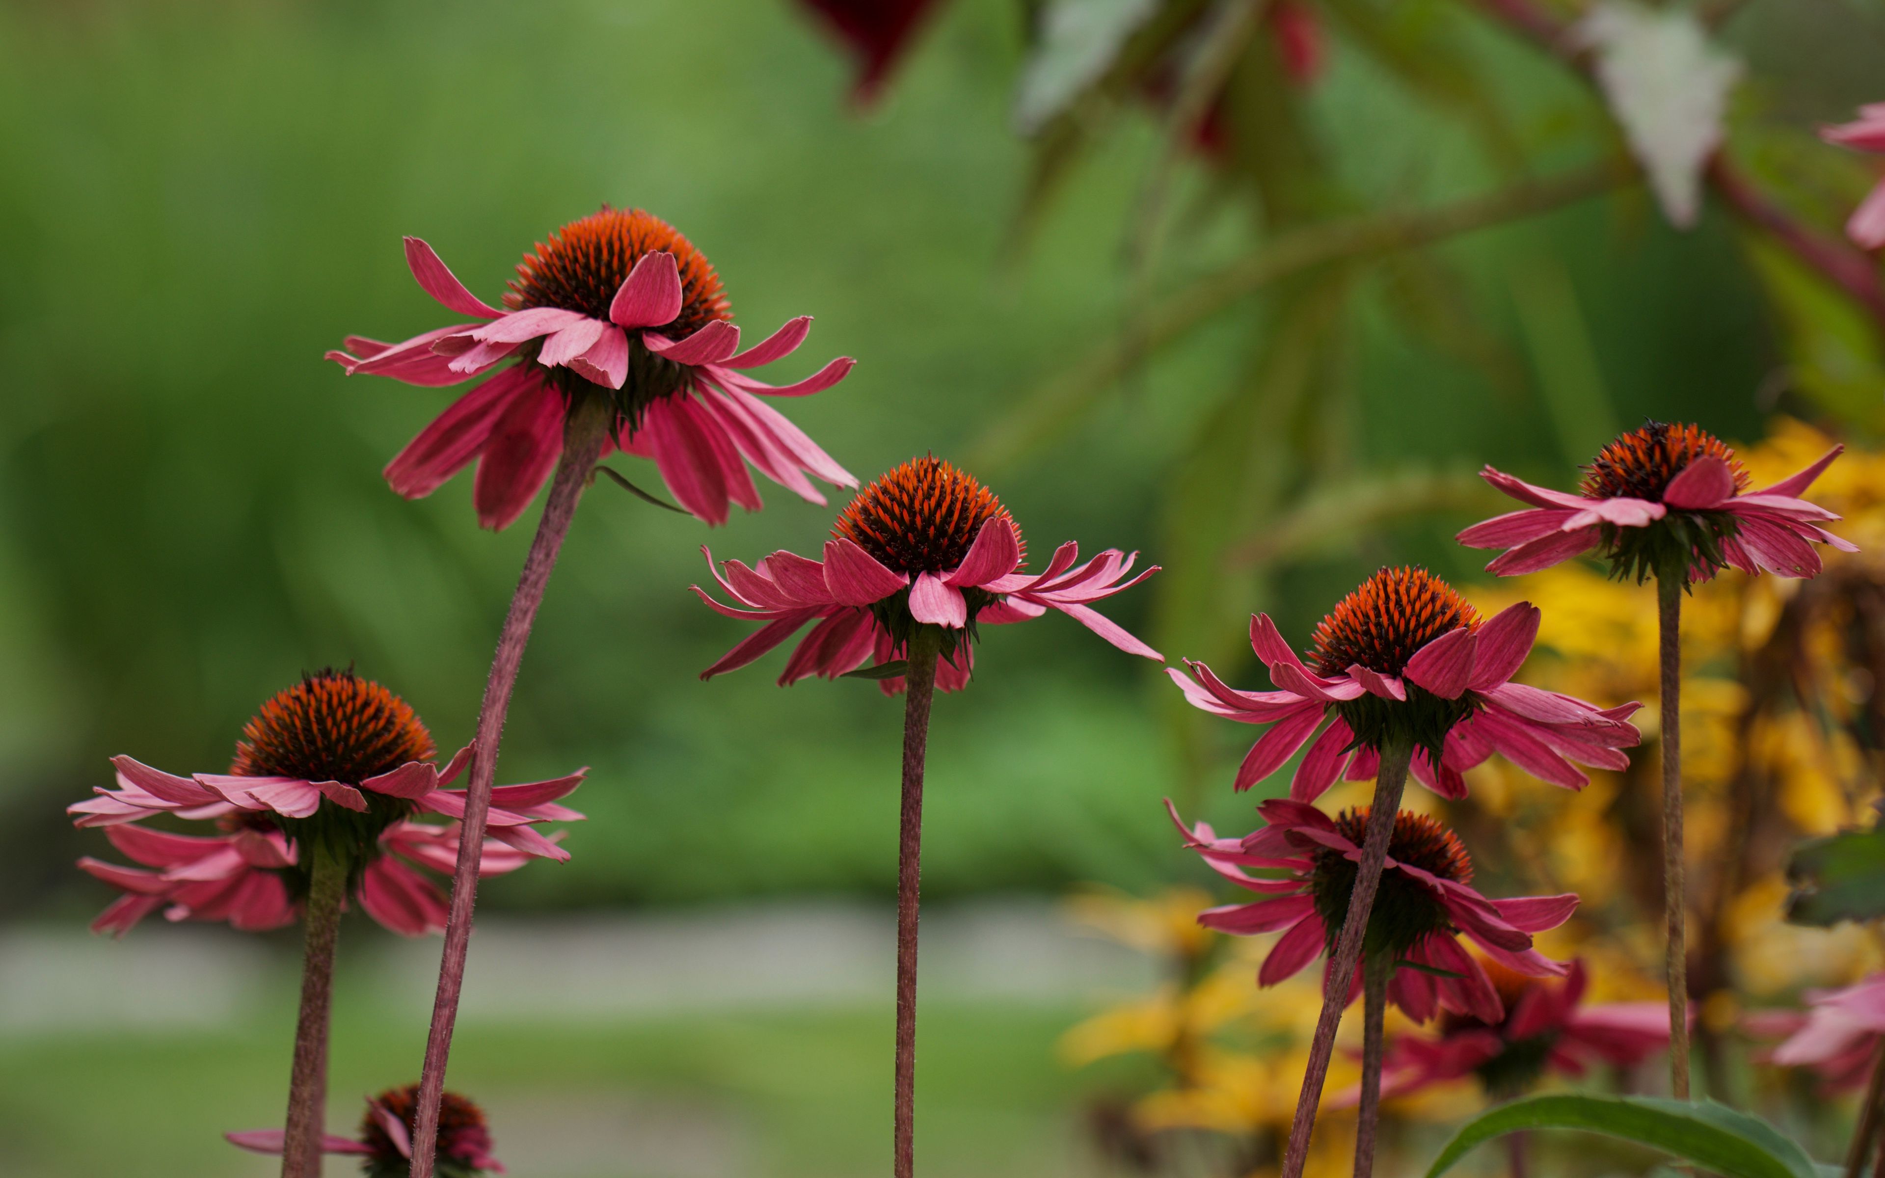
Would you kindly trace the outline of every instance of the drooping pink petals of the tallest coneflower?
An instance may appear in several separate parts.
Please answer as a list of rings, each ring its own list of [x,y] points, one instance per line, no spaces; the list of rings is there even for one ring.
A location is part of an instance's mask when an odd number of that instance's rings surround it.
[[[679,366],[679,388],[654,396],[624,417],[605,454],[620,449],[652,458],[675,499],[709,524],[728,520],[729,503],[762,507],[750,464],[794,494],[824,503],[807,475],[835,486],[858,481],[762,398],[822,392],[852,368],[848,356],[814,375],[775,386],[746,375],[792,354],[811,317],[790,320],[765,341],[739,351],[739,328],[711,320],[682,339],[664,328],[682,311],[682,281],[673,253],[643,254],[609,303],[609,319],[562,307],[503,311],[473,296],[418,237],[405,239],[418,285],[445,309],[483,322],[434,328],[400,343],[349,335],[328,358],[349,375],[383,375],[407,384],[445,386],[490,375],[445,409],[386,466],[386,483],[409,499],[424,498],[477,460],[473,503],[479,522],[515,522],[550,477],[564,447],[569,396],[556,373],[575,373],[598,390],[620,390],[637,349]],[[643,356],[645,360],[648,356]]]

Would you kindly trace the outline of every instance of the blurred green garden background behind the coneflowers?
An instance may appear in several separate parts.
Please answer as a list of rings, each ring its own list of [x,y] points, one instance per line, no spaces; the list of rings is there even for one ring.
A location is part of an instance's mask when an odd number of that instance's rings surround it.
[[[748,330],[812,313],[807,356],[860,358],[790,407],[833,456],[871,477],[935,452],[1037,552],[1144,550],[1171,571],[1106,611],[1242,682],[1252,609],[1306,635],[1382,562],[1474,582],[1450,537],[1499,509],[1482,462],[1565,484],[1646,417],[1872,437],[1876,324],[1719,202],[1678,232],[1629,179],[1150,337],[1293,226],[1625,158],[1591,90],[1472,4],[1325,8],[1316,75],[1259,136],[1282,162],[1169,160],[1159,106],[1123,102],[1042,196],[1008,0],[939,6],[871,106],[792,0],[0,4],[0,1172],[270,1172],[217,1135],[277,1123],[296,941],[89,939],[109,893],[72,861],[104,846],[62,807],[107,756],[217,769],[328,663],[469,739],[530,530],[479,532],[467,477],[392,496],[381,466],[445,396],[320,358],[435,324],[402,234],[492,298],[554,226],[660,213]],[[1868,170],[1811,130],[1885,98],[1885,8],[1734,8],[1759,85],[1732,115],[1830,236]],[[901,709],[869,682],[779,690],[777,660],[697,680],[741,635],[688,592],[699,547],[809,550],[833,516],[767,490],[709,533],[598,486],[550,586],[500,773],[590,765],[590,820],[569,863],[484,886],[490,980],[452,1067],[515,1174],[882,1169]],[[1203,882],[1165,795],[1248,826],[1227,782],[1250,733],[1174,705],[1057,616],[986,633],[939,703],[929,1174],[1123,1165],[1091,1097],[1152,1065],[1073,1069],[1056,1040],[1163,965],[1082,939],[1059,899]],[[417,1078],[435,963],[358,918],[341,944],[336,1127]]]

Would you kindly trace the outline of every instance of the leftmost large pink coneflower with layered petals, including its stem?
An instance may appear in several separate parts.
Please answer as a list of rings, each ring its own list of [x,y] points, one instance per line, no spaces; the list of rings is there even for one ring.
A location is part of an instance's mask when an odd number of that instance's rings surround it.
[[[236,743],[230,773],[177,777],[119,756],[119,788],[70,807],[77,826],[104,826],[119,850],[158,869],[83,863],[126,890],[100,918],[104,927],[123,931],[166,903],[181,905],[177,918],[230,920],[238,927],[273,927],[302,910],[302,1010],[285,1178],[320,1172],[334,944],[349,893],[388,927],[424,931],[439,924],[441,903],[411,863],[460,867],[460,833],[411,822],[420,810],[456,818],[466,809],[466,795],[441,784],[460,773],[469,754],[452,758],[443,775],[435,756],[432,733],[403,699],[352,671],[326,669],[262,705]],[[492,810],[492,827],[503,850],[567,859],[532,826],[581,818],[556,803],[581,780],[582,773],[575,773],[494,792],[503,809]],[[132,826],[164,812],[213,820],[224,829],[217,839],[188,839]],[[454,844],[458,852],[449,850]],[[494,869],[505,867],[500,854]]]

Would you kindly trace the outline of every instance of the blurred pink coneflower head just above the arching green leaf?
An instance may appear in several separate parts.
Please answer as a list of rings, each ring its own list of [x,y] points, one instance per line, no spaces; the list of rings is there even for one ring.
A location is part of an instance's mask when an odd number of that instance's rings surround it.
[[[1384,1097],[1474,1076],[1487,1095],[1512,1099],[1548,1071],[1582,1076],[1591,1063],[1632,1067],[1668,1048],[1668,1006],[1585,1005],[1583,961],[1572,961],[1563,978],[1529,976],[1493,959],[1482,965],[1504,1018],[1450,1010],[1436,1037],[1402,1035],[1382,1063]]]

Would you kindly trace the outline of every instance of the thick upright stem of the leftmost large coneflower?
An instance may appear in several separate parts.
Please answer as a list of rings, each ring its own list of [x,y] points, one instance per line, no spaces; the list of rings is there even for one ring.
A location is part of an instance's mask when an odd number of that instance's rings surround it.
[[[334,1005],[334,942],[347,897],[347,865],[322,839],[309,856],[307,908],[302,916],[302,1014],[294,1023],[294,1071],[288,1074],[288,1120],[281,1142],[281,1178],[320,1178],[320,1138],[328,1112],[328,1012]]]

